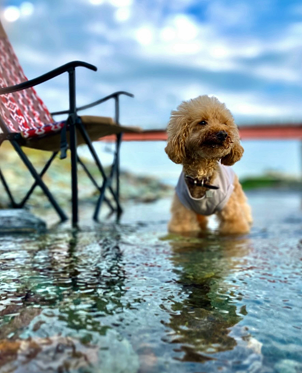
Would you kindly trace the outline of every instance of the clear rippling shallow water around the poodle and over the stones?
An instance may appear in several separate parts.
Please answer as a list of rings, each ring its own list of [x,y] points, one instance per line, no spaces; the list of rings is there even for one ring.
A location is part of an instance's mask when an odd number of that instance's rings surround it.
[[[302,372],[301,195],[253,192],[250,235],[120,225],[0,237],[0,373]]]

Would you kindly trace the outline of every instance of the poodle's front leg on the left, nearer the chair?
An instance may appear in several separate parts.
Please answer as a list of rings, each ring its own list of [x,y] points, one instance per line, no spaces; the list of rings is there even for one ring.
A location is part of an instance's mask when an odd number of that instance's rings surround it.
[[[201,225],[197,219],[197,214],[194,211],[187,209],[180,202],[176,193],[174,194],[171,213],[172,217],[168,224],[169,232],[181,233],[200,231]]]

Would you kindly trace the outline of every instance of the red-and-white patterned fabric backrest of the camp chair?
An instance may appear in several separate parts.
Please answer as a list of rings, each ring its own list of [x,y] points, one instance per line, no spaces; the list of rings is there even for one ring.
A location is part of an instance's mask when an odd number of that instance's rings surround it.
[[[0,86],[27,81],[0,22]],[[0,132],[21,132],[52,123],[53,119],[33,88],[0,95]]]

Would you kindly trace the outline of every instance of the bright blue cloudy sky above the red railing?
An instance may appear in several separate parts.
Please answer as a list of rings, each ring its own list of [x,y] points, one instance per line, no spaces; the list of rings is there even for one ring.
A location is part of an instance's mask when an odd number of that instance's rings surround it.
[[[237,124],[302,120],[302,4],[284,0],[2,0],[0,18],[29,79],[70,60],[77,103],[118,90],[122,122],[165,128],[183,99],[214,94]],[[67,78],[37,87],[68,107]],[[111,104],[93,114],[110,115]]]

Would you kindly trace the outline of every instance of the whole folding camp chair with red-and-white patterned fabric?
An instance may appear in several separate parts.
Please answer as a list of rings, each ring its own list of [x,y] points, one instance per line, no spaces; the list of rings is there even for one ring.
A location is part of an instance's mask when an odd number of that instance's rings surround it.
[[[93,71],[97,70],[93,65],[81,61],[73,61],[28,81],[0,23],[0,132],[2,132],[0,133],[0,144],[4,140],[8,140],[12,144],[33,176],[35,182],[25,197],[20,202],[16,202],[1,170],[0,180],[13,207],[23,207],[35,187],[41,187],[59,214],[61,220],[64,221],[67,219],[67,216],[48,187],[44,184],[42,177],[58,152],[61,151],[61,159],[63,159],[66,157],[67,149],[70,148],[72,164],[73,224],[76,224],[78,221],[77,164],[83,167],[89,179],[100,193],[93,218],[97,220],[103,202],[107,203],[110,209],[116,211],[118,215],[122,212],[119,199],[119,152],[122,133],[140,131],[138,127],[121,126],[119,123],[119,97],[121,94],[133,97],[131,93],[116,92],[88,105],[76,108],[75,68],[79,66]],[[55,122],[45,104],[32,87],[65,72],[69,74],[69,110],[54,112],[52,115],[68,114],[68,118],[64,121]],[[115,100],[115,119],[110,117],[77,115],[78,111],[95,106],[110,98]],[[102,136],[112,134],[116,135],[116,147],[109,175],[106,175],[92,141]],[[94,162],[100,171],[100,175],[102,176],[101,186],[97,184],[77,155],[76,147],[82,143],[87,144]],[[51,157],[40,173],[35,170],[34,166],[23,152],[23,146],[52,152]],[[110,194],[109,198],[105,196],[106,190],[108,190]]]

